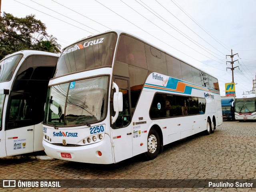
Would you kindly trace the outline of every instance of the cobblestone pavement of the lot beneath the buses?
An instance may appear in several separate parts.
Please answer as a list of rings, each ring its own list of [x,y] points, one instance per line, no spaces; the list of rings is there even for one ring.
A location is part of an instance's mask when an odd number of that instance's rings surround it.
[[[118,164],[64,160],[0,160],[0,179],[256,179],[256,122],[224,121],[214,134],[197,134]],[[255,186],[254,186],[255,187]],[[2,188],[0,191],[256,191],[256,188]]]

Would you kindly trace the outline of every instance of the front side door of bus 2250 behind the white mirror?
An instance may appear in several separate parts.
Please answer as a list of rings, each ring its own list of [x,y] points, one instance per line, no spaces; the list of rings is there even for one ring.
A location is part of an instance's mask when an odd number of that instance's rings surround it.
[[[119,112],[116,122],[112,125],[112,146],[115,162],[132,157],[132,126],[130,113],[130,84],[129,78],[114,76],[114,82],[123,93],[123,111]],[[112,109],[112,116],[115,112]]]

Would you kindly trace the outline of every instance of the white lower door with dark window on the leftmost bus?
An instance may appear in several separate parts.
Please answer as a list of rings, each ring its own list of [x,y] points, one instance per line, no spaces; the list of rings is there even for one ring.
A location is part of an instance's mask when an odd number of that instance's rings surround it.
[[[34,125],[29,94],[11,92],[6,116],[7,156],[33,152]]]

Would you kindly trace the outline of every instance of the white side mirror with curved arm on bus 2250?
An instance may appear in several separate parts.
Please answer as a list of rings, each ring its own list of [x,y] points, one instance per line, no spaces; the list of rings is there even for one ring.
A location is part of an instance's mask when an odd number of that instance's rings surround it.
[[[123,93],[119,92],[119,88],[115,82],[113,82],[112,89],[116,89],[116,92],[114,92],[114,97],[113,97],[113,107],[116,114],[114,117],[113,116],[111,117],[112,124],[113,124],[114,122],[116,122],[118,113],[123,111]]]

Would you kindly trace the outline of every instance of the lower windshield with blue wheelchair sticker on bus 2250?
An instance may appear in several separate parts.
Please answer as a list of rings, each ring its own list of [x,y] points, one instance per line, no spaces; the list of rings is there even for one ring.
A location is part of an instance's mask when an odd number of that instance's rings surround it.
[[[104,120],[108,79],[100,76],[49,87],[44,123],[76,126]]]

